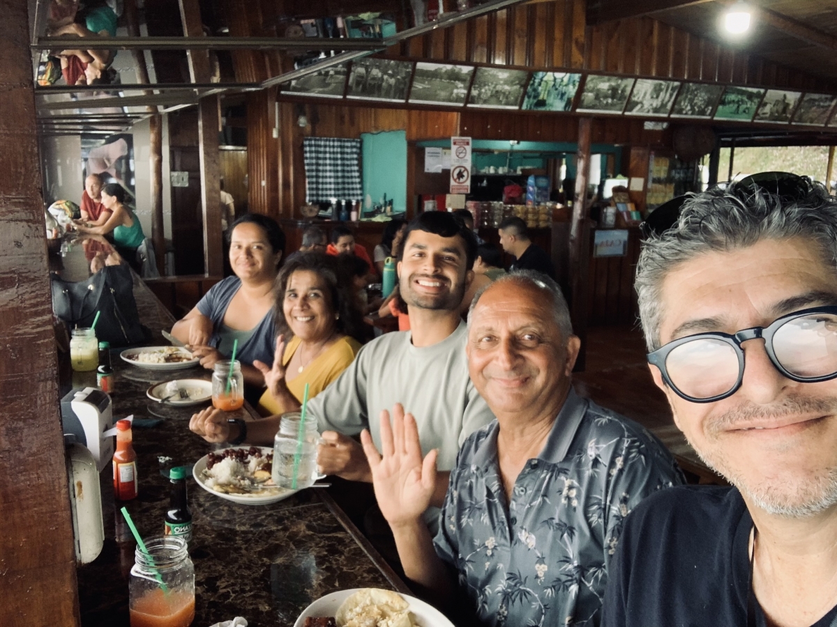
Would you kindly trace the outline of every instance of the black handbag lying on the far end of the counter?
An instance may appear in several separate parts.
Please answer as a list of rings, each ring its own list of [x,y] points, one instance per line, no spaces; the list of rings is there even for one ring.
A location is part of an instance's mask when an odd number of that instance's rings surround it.
[[[126,265],[105,266],[85,281],[64,281],[51,275],[53,311],[70,329],[90,327],[100,312],[95,334],[112,346],[139,344],[151,338],[140,324],[134,299],[131,268]]]

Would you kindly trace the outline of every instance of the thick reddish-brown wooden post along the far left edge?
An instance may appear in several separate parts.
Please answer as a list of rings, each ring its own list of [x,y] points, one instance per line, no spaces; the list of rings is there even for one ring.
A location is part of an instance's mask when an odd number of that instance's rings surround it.
[[[64,627],[79,600],[27,8],[0,0],[0,599],[3,624]]]

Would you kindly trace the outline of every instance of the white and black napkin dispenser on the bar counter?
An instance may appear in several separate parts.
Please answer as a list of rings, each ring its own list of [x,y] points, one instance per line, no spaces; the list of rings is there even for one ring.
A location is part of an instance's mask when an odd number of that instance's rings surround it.
[[[61,425],[64,435],[75,436],[75,441],[93,454],[96,470],[102,472],[113,459],[113,437],[105,431],[113,428],[110,396],[99,388],[74,388],[61,399]]]

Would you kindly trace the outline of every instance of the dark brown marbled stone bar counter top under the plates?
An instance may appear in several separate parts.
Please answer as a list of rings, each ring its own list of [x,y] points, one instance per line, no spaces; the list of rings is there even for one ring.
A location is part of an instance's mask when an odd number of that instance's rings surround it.
[[[159,331],[171,326],[171,315],[138,278],[134,294],[141,319],[154,334],[153,343],[162,344],[157,341]],[[168,469],[191,468],[219,447],[188,429],[189,417],[208,402],[176,408],[146,396],[151,384],[176,378],[208,379],[207,370],[143,370],[120,359],[120,352],[111,351],[116,371],[111,399],[115,421],[134,415],[139,496],[115,502],[112,467],[105,466],[100,475],[105,546],[98,558],[78,569],[85,627],[130,624],[128,577],[136,545],[117,517],[119,508],[127,508],[144,538],[162,535],[169,502]],[[70,386],[95,385],[95,373],[64,370],[63,379],[64,391]],[[248,409],[245,405],[239,411]],[[250,627],[293,625],[308,604],[339,589],[409,592],[323,489],[309,488],[272,505],[245,506],[204,491],[191,478],[187,488],[193,514],[189,553],[195,566],[196,627],[235,616],[244,616]]]

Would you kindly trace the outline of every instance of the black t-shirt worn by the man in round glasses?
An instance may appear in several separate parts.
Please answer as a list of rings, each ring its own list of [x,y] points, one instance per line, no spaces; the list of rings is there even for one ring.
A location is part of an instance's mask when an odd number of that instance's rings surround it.
[[[670,487],[646,498],[610,563],[601,627],[746,627],[751,530],[733,487]],[[835,617],[837,607],[812,627]],[[765,625],[758,604],[756,623]]]

